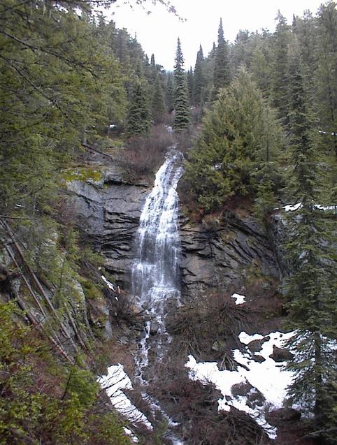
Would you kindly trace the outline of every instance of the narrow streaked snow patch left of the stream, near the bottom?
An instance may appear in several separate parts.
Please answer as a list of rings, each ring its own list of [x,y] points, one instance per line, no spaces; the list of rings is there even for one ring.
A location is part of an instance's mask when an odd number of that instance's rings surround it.
[[[141,422],[152,430],[152,425],[148,418],[139,411],[127,395],[123,393],[123,389],[132,389],[131,380],[124,371],[123,365],[113,365],[108,367],[108,375],[104,375],[97,379],[102,388],[106,389],[111,403],[131,422]]]

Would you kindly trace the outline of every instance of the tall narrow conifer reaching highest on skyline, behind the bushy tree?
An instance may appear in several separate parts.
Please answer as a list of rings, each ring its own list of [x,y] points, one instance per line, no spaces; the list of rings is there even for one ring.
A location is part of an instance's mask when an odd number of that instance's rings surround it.
[[[222,19],[220,19],[219,29],[217,33],[217,49],[215,50],[215,64],[213,73],[213,99],[217,98],[220,88],[227,87],[231,81],[229,71],[229,54],[228,45],[224,40],[224,29],[222,27]]]

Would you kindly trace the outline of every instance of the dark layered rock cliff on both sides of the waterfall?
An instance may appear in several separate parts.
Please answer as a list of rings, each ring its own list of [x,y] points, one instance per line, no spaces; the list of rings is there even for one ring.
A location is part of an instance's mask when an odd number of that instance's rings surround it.
[[[148,184],[129,184],[116,169],[99,182],[73,181],[69,193],[78,226],[106,257],[106,269],[129,290],[136,256],[139,217],[150,192]],[[217,224],[192,224],[180,215],[182,296],[187,300],[210,289],[241,289],[248,268],[280,277],[278,261],[263,226],[252,217],[228,212]]]

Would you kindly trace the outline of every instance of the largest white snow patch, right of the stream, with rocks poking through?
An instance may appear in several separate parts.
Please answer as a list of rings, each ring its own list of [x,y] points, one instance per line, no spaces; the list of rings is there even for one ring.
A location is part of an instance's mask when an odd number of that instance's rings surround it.
[[[251,353],[247,347],[243,352],[234,349],[234,358],[238,363],[236,371],[220,371],[217,363],[213,362],[196,363],[193,356],[189,356],[185,366],[190,370],[189,377],[191,379],[204,383],[211,382],[221,391],[223,398],[218,400],[219,410],[229,411],[231,407],[235,407],[245,411],[264,428],[271,439],[275,439],[276,428],[266,422],[265,411],[270,407],[282,407],[286,388],[292,382],[293,374],[284,369],[285,363],[276,363],[269,356],[273,353],[274,345],[280,348],[284,347],[285,340],[288,340],[292,335],[294,333],[268,334],[269,340],[265,341],[261,346],[261,351],[256,353],[264,358],[262,362],[255,361],[254,353]],[[248,335],[242,332],[239,335],[243,344],[263,338],[265,337],[261,334]],[[252,388],[247,395],[234,395],[232,386],[236,384],[250,384]]]

